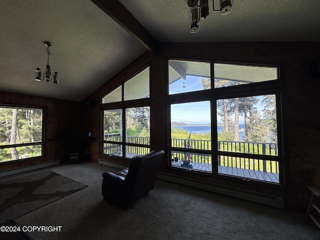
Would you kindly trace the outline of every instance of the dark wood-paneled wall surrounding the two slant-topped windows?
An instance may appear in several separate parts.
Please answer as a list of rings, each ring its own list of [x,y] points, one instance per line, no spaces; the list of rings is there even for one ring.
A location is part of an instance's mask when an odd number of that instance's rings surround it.
[[[83,107],[83,128],[98,136],[90,145],[90,160],[97,162],[99,158],[104,158],[128,163],[127,159],[100,155],[100,98],[145,64],[150,64],[151,148],[165,150],[167,150],[165,105],[167,58],[276,64],[280,66],[280,77],[285,88],[282,111],[283,133],[286,139],[284,187],[243,183],[239,180],[174,170],[168,167],[167,157],[162,162],[161,171],[262,193],[282,195],[287,208],[304,211],[310,196],[306,185],[311,183],[320,185],[320,79],[312,78],[310,75],[311,62],[320,56],[319,42],[163,43],[162,49],[157,56],[145,52],[88,97],[96,104]]]

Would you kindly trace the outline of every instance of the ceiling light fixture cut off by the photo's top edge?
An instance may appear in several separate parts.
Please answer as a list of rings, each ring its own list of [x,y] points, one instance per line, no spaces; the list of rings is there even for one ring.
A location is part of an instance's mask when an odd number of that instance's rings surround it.
[[[208,0],[185,0],[189,9],[190,32],[195,33],[199,30],[200,17],[205,19],[209,15]],[[232,10],[232,0],[220,0],[220,9],[214,9],[214,0],[212,0],[214,12],[220,12],[222,15],[228,14]]]

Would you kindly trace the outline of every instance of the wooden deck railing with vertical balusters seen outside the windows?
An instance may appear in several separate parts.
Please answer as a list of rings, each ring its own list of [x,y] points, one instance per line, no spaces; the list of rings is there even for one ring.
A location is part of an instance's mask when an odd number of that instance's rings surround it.
[[[120,141],[119,133],[104,134],[104,140]],[[150,144],[149,137],[128,136],[127,143],[135,144]],[[278,173],[278,162],[274,160],[264,160],[248,157],[228,156],[227,152],[251,153],[260,155],[276,156],[278,154],[277,143],[268,142],[244,142],[244,141],[218,141],[218,150],[225,152],[218,157],[218,165],[237,167],[243,169],[259,170],[266,172]],[[188,147],[187,147],[188,145]],[[181,139],[172,138],[171,146],[176,148],[191,148],[200,150],[211,150],[211,140],[205,139]],[[148,147],[127,146],[126,152],[130,154],[145,154],[148,152]],[[104,153],[118,154],[122,151],[120,144],[104,143]],[[211,164],[211,155],[203,153],[191,153],[187,151],[172,152],[172,159],[177,157],[179,160],[188,159],[191,157],[192,162]]]

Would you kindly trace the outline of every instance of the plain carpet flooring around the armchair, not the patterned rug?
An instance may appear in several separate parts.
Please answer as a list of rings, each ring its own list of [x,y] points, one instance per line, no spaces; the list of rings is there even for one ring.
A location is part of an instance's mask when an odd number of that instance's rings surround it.
[[[60,226],[27,232],[33,240],[319,239],[304,214],[159,179],[133,208],[117,208],[103,200],[101,173],[118,169],[91,162],[50,169],[89,186],[15,218],[20,226]]]

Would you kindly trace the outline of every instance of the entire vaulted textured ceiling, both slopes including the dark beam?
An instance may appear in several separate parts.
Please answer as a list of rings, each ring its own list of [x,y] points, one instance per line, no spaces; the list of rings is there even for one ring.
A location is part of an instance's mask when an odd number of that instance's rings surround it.
[[[218,0],[214,0],[218,8]],[[189,32],[185,0],[1,0],[0,90],[81,101],[161,42],[319,41],[317,0],[233,0]],[[59,84],[34,80],[47,61]]]

